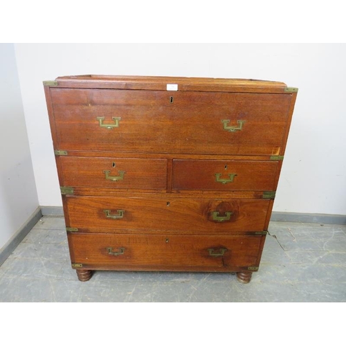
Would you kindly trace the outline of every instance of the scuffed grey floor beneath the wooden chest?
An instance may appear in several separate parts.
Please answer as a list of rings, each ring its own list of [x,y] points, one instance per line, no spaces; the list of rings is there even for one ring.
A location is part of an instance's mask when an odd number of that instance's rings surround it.
[[[249,284],[229,273],[71,268],[64,219],[43,217],[0,266],[0,302],[346,302],[346,226],[271,222]]]

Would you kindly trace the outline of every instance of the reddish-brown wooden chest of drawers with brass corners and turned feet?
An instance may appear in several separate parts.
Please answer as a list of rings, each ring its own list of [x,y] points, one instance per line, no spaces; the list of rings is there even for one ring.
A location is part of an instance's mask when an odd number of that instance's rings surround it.
[[[72,267],[221,271],[249,282],[297,89],[84,75],[44,82]]]

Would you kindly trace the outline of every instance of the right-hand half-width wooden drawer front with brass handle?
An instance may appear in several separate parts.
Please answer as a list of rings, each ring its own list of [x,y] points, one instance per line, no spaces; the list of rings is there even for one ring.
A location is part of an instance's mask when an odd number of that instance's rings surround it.
[[[174,160],[174,190],[275,189],[277,161]]]

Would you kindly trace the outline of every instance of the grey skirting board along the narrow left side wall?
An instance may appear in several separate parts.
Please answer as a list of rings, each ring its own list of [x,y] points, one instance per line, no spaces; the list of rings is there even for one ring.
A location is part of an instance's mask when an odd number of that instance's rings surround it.
[[[20,242],[26,237],[26,235],[30,232],[31,228],[37,224],[37,221],[41,219],[42,212],[41,208],[38,207],[35,212],[28,218],[26,223],[17,230],[17,232],[12,235],[10,240],[1,248],[0,250],[0,266],[3,262],[6,261],[7,257],[12,253],[12,251],[17,248]]]

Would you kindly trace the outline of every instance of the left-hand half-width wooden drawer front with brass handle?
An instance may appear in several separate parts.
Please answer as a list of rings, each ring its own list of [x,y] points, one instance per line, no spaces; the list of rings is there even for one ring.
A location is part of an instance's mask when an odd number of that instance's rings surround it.
[[[61,156],[64,186],[98,188],[167,188],[167,160]]]

